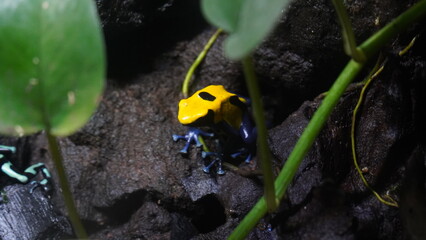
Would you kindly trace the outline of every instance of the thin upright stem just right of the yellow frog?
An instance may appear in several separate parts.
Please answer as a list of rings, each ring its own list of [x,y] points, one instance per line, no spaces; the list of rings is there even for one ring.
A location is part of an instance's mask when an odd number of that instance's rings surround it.
[[[257,128],[257,156],[260,158],[260,167],[263,173],[264,196],[269,212],[275,211],[277,202],[274,190],[274,175],[272,173],[271,153],[268,146],[268,130],[266,129],[263,104],[259,91],[259,84],[254,72],[254,66],[251,56],[242,60],[243,70],[246,79],[247,89],[249,91],[251,105],[253,108],[253,117]]]

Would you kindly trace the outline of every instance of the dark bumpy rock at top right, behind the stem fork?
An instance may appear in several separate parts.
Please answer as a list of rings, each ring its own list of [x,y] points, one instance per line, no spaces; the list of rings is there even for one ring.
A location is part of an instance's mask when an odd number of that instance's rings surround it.
[[[412,4],[412,3],[411,3]],[[385,26],[410,5],[386,0],[345,1],[358,43]],[[265,107],[280,124],[307,99],[325,92],[349,57],[341,28],[328,0],[293,1],[274,32],[254,54],[265,93]]]

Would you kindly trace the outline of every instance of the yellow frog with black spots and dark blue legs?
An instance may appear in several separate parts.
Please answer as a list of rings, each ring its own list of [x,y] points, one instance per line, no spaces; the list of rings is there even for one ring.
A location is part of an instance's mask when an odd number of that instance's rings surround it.
[[[184,136],[173,135],[173,140],[186,140],[180,152],[187,154],[191,144],[202,146],[198,140],[200,135],[217,136],[222,150],[218,153],[202,153],[203,158],[207,156],[216,158],[203,169],[207,173],[216,162],[219,163],[217,172],[224,173],[221,168],[224,155],[235,158],[246,154],[246,162],[250,162],[256,151],[257,134],[248,105],[248,99],[228,92],[222,85],[207,86],[179,102],[178,120],[190,128]],[[211,127],[215,134],[204,132],[198,127]]]

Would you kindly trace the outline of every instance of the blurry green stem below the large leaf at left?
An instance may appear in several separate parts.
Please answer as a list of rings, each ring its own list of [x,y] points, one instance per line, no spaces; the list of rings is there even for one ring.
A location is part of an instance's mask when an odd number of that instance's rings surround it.
[[[72,193],[68,184],[59,143],[56,137],[53,136],[49,131],[47,131],[46,135],[47,140],[49,142],[50,154],[52,156],[56,171],[58,173],[59,184],[62,189],[62,195],[64,197],[65,206],[68,210],[68,215],[71,220],[71,224],[73,225],[75,234],[78,239],[87,239],[86,230],[84,229],[83,224],[80,221],[80,217],[78,216],[77,208],[75,207]]]

